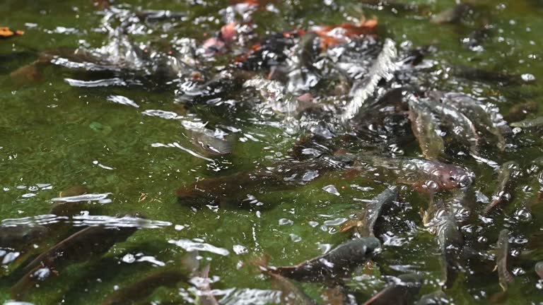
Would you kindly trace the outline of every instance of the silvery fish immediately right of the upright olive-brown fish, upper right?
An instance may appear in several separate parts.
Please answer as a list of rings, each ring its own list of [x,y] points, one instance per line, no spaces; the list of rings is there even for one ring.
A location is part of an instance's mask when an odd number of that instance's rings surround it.
[[[457,109],[450,107],[448,104],[440,103],[436,100],[424,100],[434,112],[443,117],[445,124],[452,130],[452,135],[461,141],[469,143],[469,152],[474,155],[479,155],[479,142],[481,137],[477,133],[472,120],[468,119],[465,114]]]

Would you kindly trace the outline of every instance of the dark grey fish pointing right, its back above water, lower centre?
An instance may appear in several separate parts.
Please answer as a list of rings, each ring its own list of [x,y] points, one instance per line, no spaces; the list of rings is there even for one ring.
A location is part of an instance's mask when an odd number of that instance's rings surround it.
[[[353,268],[368,261],[381,246],[375,237],[362,237],[340,244],[329,253],[293,266],[271,267],[269,273],[300,281],[341,280]]]

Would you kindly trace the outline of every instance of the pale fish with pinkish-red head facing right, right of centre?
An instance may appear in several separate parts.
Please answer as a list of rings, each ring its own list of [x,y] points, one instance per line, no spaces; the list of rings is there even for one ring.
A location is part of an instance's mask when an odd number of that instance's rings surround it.
[[[349,168],[363,171],[363,165],[370,165],[390,171],[395,174],[397,182],[411,185],[416,191],[423,193],[464,189],[470,186],[474,179],[474,174],[468,169],[437,160],[366,154],[356,154],[353,157],[356,161]]]

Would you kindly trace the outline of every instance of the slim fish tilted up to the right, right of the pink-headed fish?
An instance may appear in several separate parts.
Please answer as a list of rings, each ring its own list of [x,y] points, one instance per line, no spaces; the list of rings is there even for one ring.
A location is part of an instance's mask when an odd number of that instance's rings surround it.
[[[496,192],[492,196],[492,201],[484,208],[484,214],[488,214],[491,210],[496,208],[496,206],[501,205],[510,201],[518,177],[522,174],[519,170],[520,166],[516,161],[509,161],[503,163],[499,169],[498,173],[498,186],[496,187]]]

